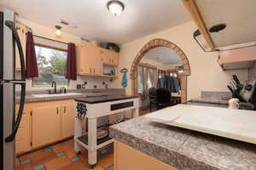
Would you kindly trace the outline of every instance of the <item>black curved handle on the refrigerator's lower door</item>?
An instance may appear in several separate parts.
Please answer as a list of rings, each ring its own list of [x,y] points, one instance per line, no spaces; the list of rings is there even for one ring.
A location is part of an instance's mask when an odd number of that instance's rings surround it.
[[[20,107],[18,111],[18,116],[15,121],[15,125],[13,127],[13,132],[10,133],[10,135],[4,139],[5,142],[11,142],[15,139],[15,135],[18,131],[18,128],[20,126],[20,120],[22,117],[24,105],[25,105],[25,97],[26,97],[26,83],[25,82],[15,82],[15,84],[20,84],[21,86],[21,93],[20,93]]]

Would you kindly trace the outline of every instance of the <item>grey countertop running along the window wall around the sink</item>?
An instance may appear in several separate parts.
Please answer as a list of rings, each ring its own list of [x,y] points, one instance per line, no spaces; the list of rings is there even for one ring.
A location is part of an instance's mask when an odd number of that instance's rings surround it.
[[[78,93],[81,95],[67,95],[67,96],[55,96],[55,97],[34,97],[32,94],[46,94],[45,91],[27,91],[26,102],[38,102],[60,99],[77,99],[98,95],[124,95],[125,89],[123,88],[104,88],[104,89],[68,89],[67,93]],[[19,92],[17,92],[16,103],[20,103]]]

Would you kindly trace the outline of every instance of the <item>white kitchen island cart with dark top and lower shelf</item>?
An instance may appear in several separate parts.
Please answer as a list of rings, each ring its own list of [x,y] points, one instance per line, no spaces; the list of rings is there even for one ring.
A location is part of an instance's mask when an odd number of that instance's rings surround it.
[[[112,95],[75,99],[74,150],[88,150],[88,166],[95,167],[97,150],[113,143],[108,136],[97,139],[97,118],[131,110],[133,117],[138,116],[138,96]],[[84,117],[88,119],[88,134],[82,133]]]

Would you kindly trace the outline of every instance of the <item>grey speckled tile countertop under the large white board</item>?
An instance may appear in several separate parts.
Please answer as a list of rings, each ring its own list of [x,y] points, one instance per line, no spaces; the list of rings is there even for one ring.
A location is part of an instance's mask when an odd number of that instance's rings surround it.
[[[110,137],[179,170],[255,170],[256,145],[151,122],[110,127]]]

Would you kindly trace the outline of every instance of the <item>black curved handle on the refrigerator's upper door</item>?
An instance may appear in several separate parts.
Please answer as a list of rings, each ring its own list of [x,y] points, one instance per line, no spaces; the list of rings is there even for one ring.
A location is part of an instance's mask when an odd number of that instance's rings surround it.
[[[26,81],[25,59],[24,59],[24,54],[23,54],[22,47],[21,47],[20,37],[15,28],[15,23],[10,20],[5,20],[5,26],[8,26],[9,29],[12,31],[14,40],[17,44],[18,51],[20,54],[20,67],[21,67],[21,80],[20,81]]]

